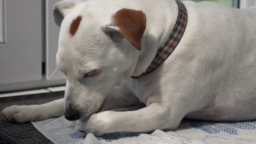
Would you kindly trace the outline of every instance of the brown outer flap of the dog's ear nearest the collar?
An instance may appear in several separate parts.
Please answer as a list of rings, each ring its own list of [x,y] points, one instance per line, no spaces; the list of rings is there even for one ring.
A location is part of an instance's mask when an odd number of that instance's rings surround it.
[[[121,9],[114,14],[113,19],[121,34],[141,51],[141,39],[146,29],[146,14],[141,10]]]

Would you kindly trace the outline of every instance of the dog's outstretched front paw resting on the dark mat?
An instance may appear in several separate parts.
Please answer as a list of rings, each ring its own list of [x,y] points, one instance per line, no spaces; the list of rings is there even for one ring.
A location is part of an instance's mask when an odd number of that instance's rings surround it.
[[[25,123],[29,121],[40,121],[43,115],[40,115],[40,108],[38,105],[13,105],[3,109],[0,113],[9,121]]]

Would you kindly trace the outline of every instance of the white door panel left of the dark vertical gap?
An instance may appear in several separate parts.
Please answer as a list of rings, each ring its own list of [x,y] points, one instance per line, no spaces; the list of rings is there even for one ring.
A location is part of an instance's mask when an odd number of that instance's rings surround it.
[[[42,0],[0,0],[0,85],[41,79]]]

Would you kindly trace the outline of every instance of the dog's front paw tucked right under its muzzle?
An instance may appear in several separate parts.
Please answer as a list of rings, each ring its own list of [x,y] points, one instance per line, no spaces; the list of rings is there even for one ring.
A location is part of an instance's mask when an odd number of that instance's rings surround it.
[[[93,133],[96,137],[109,133],[111,121],[108,119],[108,111],[93,114],[89,119],[78,120],[76,130]]]

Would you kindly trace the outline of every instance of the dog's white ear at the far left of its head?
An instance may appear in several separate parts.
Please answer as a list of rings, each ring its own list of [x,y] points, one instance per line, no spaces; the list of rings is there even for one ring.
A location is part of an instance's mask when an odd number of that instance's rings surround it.
[[[57,26],[60,26],[65,15],[79,3],[85,0],[62,0],[53,6],[53,17]]]

